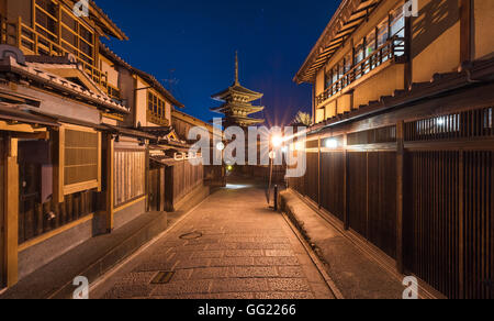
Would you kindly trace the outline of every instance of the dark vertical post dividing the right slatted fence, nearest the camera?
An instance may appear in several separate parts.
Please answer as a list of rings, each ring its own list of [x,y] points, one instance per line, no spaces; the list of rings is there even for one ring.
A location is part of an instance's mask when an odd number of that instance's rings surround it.
[[[405,164],[405,123],[396,124],[396,268],[401,274],[405,273],[403,251],[404,229],[404,164]]]

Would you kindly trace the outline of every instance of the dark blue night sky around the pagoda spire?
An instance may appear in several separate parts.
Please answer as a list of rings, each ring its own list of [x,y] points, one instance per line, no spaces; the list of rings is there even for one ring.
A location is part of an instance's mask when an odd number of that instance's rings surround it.
[[[271,125],[290,122],[297,110],[310,111],[311,87],[292,79],[338,2],[97,0],[130,37],[112,40],[110,47],[167,88],[167,79],[177,79],[172,93],[186,112],[204,121],[215,115],[209,111],[217,106],[211,95],[234,80],[238,49],[240,82],[265,93]]]

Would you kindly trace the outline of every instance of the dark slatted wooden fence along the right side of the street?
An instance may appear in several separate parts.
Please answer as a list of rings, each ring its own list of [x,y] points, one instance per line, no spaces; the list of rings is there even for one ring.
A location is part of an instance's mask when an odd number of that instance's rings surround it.
[[[289,186],[445,296],[492,299],[492,113],[400,120],[334,150],[310,136],[307,171]]]

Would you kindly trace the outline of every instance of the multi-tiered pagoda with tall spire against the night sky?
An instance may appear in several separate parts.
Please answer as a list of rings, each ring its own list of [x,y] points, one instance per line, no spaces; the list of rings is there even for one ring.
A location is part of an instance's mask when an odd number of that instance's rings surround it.
[[[265,110],[261,106],[252,106],[252,102],[263,97],[247,89],[238,80],[238,54],[235,55],[235,82],[227,89],[213,95],[211,98],[223,102],[221,107],[212,108],[211,111],[224,114],[223,125],[225,128],[237,125],[248,128],[265,122],[263,119],[249,118],[250,114]]]

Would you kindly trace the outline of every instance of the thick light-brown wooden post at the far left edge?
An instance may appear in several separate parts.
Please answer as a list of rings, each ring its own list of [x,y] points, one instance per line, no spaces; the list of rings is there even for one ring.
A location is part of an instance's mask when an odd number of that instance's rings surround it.
[[[18,140],[8,137],[4,168],[4,275],[11,287],[18,283],[18,237],[19,237],[19,164]]]

